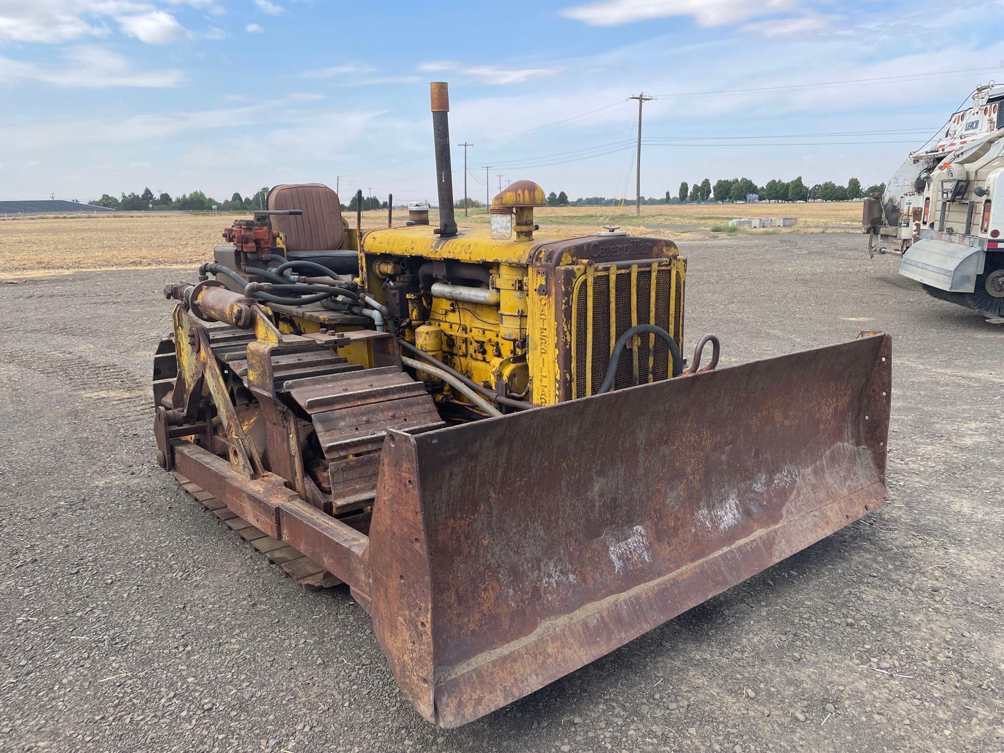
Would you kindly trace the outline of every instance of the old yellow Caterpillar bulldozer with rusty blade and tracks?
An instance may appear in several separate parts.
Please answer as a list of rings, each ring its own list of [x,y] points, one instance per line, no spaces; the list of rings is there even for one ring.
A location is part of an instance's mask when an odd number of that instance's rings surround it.
[[[455,727],[882,505],[892,352],[718,367],[706,335],[687,363],[672,242],[538,233],[528,181],[458,229],[447,97],[438,227],[276,187],[166,287],[154,399],[159,464],[298,581],[347,584]]]

